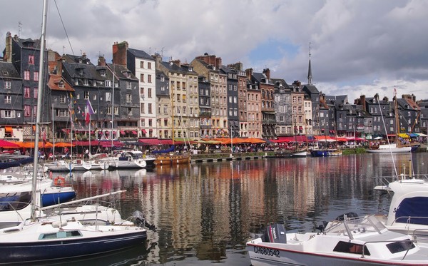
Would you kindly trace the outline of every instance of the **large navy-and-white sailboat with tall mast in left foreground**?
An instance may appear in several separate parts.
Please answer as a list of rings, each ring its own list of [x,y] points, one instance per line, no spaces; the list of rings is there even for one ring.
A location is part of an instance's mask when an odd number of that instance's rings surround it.
[[[35,154],[39,151],[41,99],[44,91],[44,51],[47,0],[43,4],[43,22],[40,47],[39,97],[36,113]],[[83,225],[70,218],[38,218],[36,205],[38,190],[38,157],[34,156],[31,191],[31,218],[16,227],[0,230],[0,262],[32,263],[97,255],[126,247],[140,245],[147,239],[146,229],[133,223],[122,225]]]

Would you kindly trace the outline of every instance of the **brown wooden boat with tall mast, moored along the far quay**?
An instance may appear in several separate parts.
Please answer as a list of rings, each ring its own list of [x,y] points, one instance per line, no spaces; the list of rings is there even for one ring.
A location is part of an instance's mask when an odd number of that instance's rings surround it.
[[[171,96],[171,117],[172,117],[172,140],[173,144],[166,150],[155,150],[155,165],[178,165],[190,163],[190,153],[175,153],[175,130],[174,130],[174,101]]]

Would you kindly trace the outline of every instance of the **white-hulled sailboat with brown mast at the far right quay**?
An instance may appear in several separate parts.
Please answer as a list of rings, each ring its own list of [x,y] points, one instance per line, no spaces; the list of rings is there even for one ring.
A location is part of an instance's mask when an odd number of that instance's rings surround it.
[[[403,144],[399,140],[399,113],[398,113],[398,100],[397,100],[397,90],[394,88],[394,111],[395,111],[395,143],[382,144],[379,146],[372,146],[367,149],[367,153],[410,153],[417,150],[418,145],[409,145]],[[382,112],[381,112],[382,114]]]

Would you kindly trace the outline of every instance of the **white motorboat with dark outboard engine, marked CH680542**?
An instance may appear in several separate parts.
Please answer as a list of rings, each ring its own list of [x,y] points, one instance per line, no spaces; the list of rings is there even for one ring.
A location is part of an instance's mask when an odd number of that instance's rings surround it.
[[[428,246],[387,230],[374,216],[330,222],[322,232],[270,225],[247,242],[251,265],[428,265]]]

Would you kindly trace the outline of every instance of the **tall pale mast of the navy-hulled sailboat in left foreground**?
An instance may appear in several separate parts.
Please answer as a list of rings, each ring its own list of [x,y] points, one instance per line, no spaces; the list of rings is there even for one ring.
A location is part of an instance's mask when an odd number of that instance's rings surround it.
[[[43,16],[41,23],[41,38],[40,38],[40,61],[39,61],[39,90],[37,92],[37,113],[36,113],[36,136],[34,140],[34,163],[33,163],[33,180],[32,180],[32,192],[31,192],[31,220],[36,218],[36,185],[37,185],[37,173],[39,164],[39,135],[40,135],[40,116],[41,116],[41,104],[44,93],[44,51],[45,51],[45,39],[46,39],[46,17],[47,17],[47,5],[48,0],[43,1]]]

